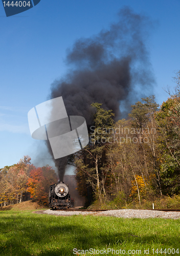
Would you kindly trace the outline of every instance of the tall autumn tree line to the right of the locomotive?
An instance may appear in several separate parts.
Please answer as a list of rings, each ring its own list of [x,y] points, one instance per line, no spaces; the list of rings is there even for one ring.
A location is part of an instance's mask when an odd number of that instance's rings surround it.
[[[155,97],[131,105],[127,119],[93,103],[89,144],[75,154],[78,191],[87,202],[124,202],[180,192],[180,90],[159,106]]]

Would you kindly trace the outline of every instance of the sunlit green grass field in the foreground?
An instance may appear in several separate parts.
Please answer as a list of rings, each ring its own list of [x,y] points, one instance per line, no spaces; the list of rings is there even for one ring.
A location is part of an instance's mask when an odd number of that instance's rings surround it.
[[[0,211],[0,255],[68,256],[75,255],[73,248],[124,249],[126,255],[133,255],[128,250],[141,250],[142,255],[147,255],[144,249],[149,248],[148,255],[153,255],[152,248],[163,248],[163,251],[179,248],[180,254],[179,227],[180,220],[61,217],[32,211]]]

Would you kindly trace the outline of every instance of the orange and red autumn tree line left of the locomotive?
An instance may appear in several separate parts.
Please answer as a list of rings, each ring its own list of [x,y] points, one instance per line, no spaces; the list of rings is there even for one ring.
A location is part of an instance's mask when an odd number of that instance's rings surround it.
[[[1,206],[12,205],[32,198],[48,204],[49,186],[58,180],[51,166],[35,167],[31,158],[24,156],[17,164],[0,169]]]

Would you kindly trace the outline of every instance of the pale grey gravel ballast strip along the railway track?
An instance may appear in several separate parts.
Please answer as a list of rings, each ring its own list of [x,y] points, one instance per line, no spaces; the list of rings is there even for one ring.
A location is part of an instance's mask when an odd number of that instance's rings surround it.
[[[107,210],[107,211],[69,211],[69,210],[40,210],[35,211],[37,214],[50,214],[56,216],[72,216],[72,215],[94,215],[94,216],[111,216],[118,218],[164,218],[164,219],[179,219],[180,212],[173,211],[156,211],[156,210]]]

